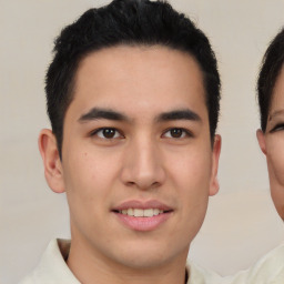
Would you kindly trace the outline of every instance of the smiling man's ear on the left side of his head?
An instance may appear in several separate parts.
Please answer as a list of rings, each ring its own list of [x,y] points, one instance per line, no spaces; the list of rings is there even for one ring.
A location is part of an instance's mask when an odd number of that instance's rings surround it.
[[[55,193],[65,191],[62,164],[57,139],[51,130],[43,129],[39,135],[39,150],[43,161],[44,175],[50,189]]]

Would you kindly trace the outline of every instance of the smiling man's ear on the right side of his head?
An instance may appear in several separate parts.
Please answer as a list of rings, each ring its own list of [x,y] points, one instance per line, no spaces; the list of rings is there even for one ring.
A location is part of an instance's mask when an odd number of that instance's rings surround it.
[[[217,181],[217,169],[219,169],[219,159],[221,152],[221,136],[219,134],[214,138],[214,144],[212,150],[212,174],[211,174],[211,184],[209,195],[215,195],[219,192],[219,181]]]

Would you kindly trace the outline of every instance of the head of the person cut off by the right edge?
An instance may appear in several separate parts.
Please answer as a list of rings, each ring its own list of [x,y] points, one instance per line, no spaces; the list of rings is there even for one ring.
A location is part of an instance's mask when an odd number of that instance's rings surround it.
[[[257,140],[267,160],[272,200],[284,220],[284,29],[265,53],[257,91]]]

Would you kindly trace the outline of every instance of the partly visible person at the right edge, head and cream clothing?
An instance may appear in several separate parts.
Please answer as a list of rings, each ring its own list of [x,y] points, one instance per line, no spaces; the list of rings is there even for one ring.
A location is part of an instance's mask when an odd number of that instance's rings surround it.
[[[267,48],[257,81],[261,129],[256,135],[266,155],[270,187],[276,211],[284,220],[284,29]],[[232,284],[283,284],[284,242],[252,268],[226,277]]]

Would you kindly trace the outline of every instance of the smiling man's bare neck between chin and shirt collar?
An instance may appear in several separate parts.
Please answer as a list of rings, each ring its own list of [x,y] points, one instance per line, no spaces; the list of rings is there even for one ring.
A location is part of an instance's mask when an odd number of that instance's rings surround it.
[[[155,267],[129,267],[105,256],[93,254],[91,247],[71,243],[68,266],[84,284],[184,284],[186,255]]]

